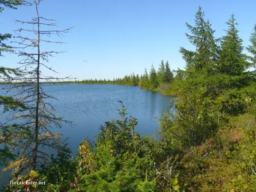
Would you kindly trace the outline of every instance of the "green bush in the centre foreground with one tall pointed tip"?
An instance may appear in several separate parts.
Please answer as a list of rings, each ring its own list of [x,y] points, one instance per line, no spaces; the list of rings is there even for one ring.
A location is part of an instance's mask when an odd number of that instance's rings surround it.
[[[121,120],[100,127],[93,150],[97,166],[77,186],[86,191],[156,191],[150,139],[134,132],[136,119],[128,118],[120,103]]]

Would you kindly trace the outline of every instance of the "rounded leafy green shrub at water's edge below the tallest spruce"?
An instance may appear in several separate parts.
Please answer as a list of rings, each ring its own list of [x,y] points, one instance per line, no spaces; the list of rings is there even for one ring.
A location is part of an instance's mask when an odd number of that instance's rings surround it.
[[[192,90],[182,92],[173,108],[175,113],[164,115],[159,126],[164,134],[168,134],[166,139],[172,140],[176,146],[180,143],[183,148],[196,147],[216,133],[221,118],[217,107]]]

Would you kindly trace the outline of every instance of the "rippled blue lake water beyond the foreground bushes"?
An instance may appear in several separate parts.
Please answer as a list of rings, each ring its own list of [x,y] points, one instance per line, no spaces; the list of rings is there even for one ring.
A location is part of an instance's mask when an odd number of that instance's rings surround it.
[[[6,94],[0,85],[0,95]],[[94,140],[99,134],[100,125],[112,118],[120,118],[117,108],[121,108],[118,100],[124,102],[127,113],[137,118],[135,131],[142,135],[156,134],[158,121],[163,112],[169,110],[171,97],[164,97],[158,92],[141,90],[138,86],[120,86],[116,84],[43,84],[45,93],[58,100],[51,100],[56,109],[56,116],[72,121],[75,126],[63,124],[58,132],[63,139],[69,138],[73,154],[77,154],[79,143],[86,138]],[[4,114],[0,119],[4,121]],[[1,121],[1,122],[2,122]],[[1,179],[0,178],[0,184]]]

